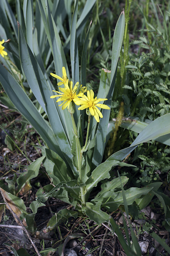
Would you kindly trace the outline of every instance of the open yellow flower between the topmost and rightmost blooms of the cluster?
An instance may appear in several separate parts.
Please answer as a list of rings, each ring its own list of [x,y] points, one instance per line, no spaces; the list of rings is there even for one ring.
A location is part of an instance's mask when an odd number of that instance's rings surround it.
[[[64,83],[64,85],[65,85],[64,88],[59,87],[59,90],[61,92],[54,91],[61,95],[53,95],[50,97],[50,98],[60,97],[56,102],[63,101],[63,103],[59,105],[59,106],[63,105],[62,110],[64,110],[66,107],[69,108],[70,102],[78,101],[79,100],[78,97],[83,96],[83,92],[80,92],[78,95],[76,95],[77,85],[75,85],[73,88],[73,82],[69,81],[69,84],[70,84],[70,86],[68,86],[67,83]]]

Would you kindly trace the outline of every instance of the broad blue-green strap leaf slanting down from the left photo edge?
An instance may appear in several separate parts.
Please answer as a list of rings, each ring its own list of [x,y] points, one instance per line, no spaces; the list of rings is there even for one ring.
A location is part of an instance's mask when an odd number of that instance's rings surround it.
[[[36,109],[22,87],[12,77],[12,75],[0,64],[0,82],[7,96],[17,110],[28,120],[34,129],[40,134],[41,138],[50,149],[57,151],[60,156],[62,152],[57,144],[53,131],[49,124],[44,120]]]

